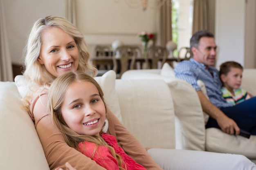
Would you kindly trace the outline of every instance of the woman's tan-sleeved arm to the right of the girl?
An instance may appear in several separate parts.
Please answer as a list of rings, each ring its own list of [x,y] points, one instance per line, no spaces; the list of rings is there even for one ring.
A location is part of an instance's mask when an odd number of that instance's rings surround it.
[[[117,117],[108,109],[109,132],[117,138],[124,151],[147,170],[162,170],[151,158],[140,142],[121,124]]]

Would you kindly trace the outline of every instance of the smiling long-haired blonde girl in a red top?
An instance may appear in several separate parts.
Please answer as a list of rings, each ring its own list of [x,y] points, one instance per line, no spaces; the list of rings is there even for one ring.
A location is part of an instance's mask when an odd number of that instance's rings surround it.
[[[103,132],[106,104],[101,87],[90,75],[67,72],[57,77],[48,106],[69,146],[108,170],[146,170],[126,155],[114,136]]]

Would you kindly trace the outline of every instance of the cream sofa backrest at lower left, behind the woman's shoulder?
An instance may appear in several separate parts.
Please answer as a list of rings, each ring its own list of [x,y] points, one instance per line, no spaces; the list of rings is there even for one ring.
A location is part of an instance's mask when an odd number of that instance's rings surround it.
[[[0,89],[0,169],[49,170],[34,123],[22,109],[15,83],[0,82]]]

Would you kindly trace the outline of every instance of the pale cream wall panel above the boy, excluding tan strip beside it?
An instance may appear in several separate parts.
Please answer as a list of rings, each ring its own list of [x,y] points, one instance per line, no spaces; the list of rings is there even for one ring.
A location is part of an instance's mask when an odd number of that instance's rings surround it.
[[[245,2],[244,0],[216,0],[216,67],[234,60],[244,65]]]

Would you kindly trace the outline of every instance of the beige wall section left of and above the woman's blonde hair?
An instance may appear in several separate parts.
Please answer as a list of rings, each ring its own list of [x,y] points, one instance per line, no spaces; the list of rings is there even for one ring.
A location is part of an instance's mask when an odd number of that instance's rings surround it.
[[[65,0],[4,0],[11,61],[20,64],[33,23],[47,15],[65,17]]]

